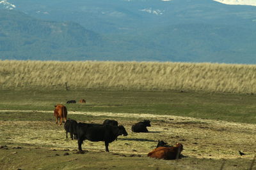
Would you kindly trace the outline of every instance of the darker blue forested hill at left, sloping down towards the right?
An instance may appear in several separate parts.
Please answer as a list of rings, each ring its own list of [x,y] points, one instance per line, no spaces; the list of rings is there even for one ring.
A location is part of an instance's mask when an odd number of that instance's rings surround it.
[[[71,56],[79,60],[80,55],[86,57],[87,48],[102,45],[99,34],[74,22],[38,20],[19,11],[0,10],[0,23],[0,59],[62,60]]]

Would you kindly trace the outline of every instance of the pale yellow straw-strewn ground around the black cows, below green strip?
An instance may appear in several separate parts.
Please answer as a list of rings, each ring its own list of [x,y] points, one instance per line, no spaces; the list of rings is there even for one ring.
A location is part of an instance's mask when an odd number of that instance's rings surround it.
[[[10,111],[10,114],[13,112]],[[45,114],[38,112],[38,114]],[[115,118],[123,124],[128,136],[120,136],[118,141],[109,145],[110,152],[135,153],[146,155],[156,147],[161,139],[173,145],[177,142],[184,145],[183,155],[206,159],[237,159],[238,151],[246,153],[244,159],[253,159],[256,148],[256,125],[223,122],[217,120],[202,120],[198,118],[175,117],[168,115],[148,115],[131,113],[84,113],[69,112],[97,117],[94,123],[101,124],[104,117]],[[24,115],[29,115],[29,111]],[[132,124],[148,118],[152,120],[149,133],[131,132]],[[88,122],[77,120],[78,122]],[[65,138],[62,126],[52,121],[0,121],[1,143],[12,145],[42,146],[51,149],[77,149],[77,141]],[[84,150],[104,151],[104,143],[84,141]]]

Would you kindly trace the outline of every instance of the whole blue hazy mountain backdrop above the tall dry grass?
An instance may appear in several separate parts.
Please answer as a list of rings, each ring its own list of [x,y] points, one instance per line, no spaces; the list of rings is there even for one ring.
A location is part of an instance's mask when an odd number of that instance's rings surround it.
[[[256,7],[216,1],[9,0],[0,59],[256,64]]]

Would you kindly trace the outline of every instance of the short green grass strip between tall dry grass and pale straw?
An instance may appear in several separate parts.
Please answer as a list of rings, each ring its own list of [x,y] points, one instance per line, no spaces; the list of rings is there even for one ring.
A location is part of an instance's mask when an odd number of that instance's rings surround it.
[[[68,111],[151,113],[256,123],[255,96],[206,92],[116,90],[1,90],[0,110],[54,110],[57,103],[85,99],[86,104],[65,104]]]

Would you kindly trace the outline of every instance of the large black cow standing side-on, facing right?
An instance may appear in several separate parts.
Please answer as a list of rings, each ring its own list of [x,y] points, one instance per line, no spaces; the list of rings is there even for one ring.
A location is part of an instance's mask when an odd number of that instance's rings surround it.
[[[85,139],[89,141],[104,141],[106,152],[109,152],[109,143],[115,141],[119,135],[127,136],[124,126],[100,125],[100,124],[77,124],[78,150],[82,151],[82,143]]]

